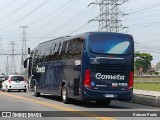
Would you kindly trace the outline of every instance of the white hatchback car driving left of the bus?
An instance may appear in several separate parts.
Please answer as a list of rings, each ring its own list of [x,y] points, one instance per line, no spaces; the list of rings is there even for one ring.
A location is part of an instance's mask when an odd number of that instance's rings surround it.
[[[27,81],[22,75],[8,75],[2,82],[2,91],[27,91]]]

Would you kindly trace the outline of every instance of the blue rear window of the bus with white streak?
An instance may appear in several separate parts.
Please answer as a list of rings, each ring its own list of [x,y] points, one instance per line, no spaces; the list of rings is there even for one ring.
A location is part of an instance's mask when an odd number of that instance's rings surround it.
[[[124,36],[91,35],[90,49],[94,53],[130,54],[130,40]]]

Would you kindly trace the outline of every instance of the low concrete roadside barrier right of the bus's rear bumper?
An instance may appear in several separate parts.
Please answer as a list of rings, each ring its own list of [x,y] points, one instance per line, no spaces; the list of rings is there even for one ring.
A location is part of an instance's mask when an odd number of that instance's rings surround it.
[[[133,103],[160,107],[160,92],[134,89],[133,93]]]

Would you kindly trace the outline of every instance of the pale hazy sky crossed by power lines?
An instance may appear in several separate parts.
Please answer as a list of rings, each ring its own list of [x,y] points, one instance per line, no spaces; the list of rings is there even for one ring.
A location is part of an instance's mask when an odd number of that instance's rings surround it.
[[[0,0],[0,53],[21,53],[23,30],[26,45],[34,49],[39,43],[60,36],[97,31],[92,21],[99,12],[96,0]],[[122,1],[122,0],[121,0]],[[119,9],[127,15],[120,17],[135,40],[135,51],[153,55],[152,64],[160,62],[160,0],[128,0]],[[21,56],[14,56],[16,71],[20,71]],[[11,57],[8,57],[9,65]],[[0,55],[0,71],[5,72],[7,57]]]

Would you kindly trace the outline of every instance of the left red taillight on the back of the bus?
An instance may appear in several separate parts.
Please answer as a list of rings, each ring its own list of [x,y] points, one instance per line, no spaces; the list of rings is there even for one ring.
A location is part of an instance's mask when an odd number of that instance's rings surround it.
[[[91,73],[90,70],[86,70],[85,72],[85,79],[84,79],[84,86],[85,87],[90,87],[91,85]]]

